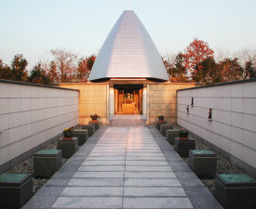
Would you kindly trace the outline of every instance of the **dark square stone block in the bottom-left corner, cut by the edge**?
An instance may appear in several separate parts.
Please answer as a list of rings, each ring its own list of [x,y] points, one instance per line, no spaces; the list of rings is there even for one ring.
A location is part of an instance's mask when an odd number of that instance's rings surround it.
[[[0,175],[0,208],[20,209],[33,196],[32,175]]]

